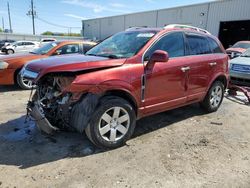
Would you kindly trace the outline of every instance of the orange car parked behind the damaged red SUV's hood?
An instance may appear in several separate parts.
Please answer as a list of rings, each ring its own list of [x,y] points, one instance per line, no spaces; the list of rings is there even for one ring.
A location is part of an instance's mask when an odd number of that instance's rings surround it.
[[[19,76],[22,67],[29,61],[49,56],[85,53],[96,45],[90,41],[52,42],[26,54],[0,57],[0,85],[18,84],[22,89],[31,89],[32,82]]]

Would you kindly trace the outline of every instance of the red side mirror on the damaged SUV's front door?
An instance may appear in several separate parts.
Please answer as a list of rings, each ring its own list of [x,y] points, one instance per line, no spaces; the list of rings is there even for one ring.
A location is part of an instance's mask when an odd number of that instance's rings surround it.
[[[166,63],[169,60],[169,55],[166,51],[156,50],[150,57],[146,70],[152,70],[155,63]]]

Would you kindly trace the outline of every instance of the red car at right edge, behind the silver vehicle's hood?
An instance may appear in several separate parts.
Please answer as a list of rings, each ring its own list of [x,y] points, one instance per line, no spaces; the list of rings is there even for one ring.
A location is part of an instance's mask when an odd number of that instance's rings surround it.
[[[228,56],[233,59],[239,57],[243,52],[250,48],[250,41],[239,41],[226,50]]]

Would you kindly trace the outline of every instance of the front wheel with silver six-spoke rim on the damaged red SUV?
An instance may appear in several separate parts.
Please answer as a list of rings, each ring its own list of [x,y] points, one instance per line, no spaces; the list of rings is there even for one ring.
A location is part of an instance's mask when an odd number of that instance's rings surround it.
[[[132,136],[135,124],[132,105],[120,97],[108,96],[101,99],[85,132],[97,147],[114,149]]]

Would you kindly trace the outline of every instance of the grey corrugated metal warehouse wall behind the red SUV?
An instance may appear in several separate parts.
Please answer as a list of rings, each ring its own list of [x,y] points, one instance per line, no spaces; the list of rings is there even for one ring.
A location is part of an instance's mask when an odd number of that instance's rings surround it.
[[[163,27],[172,23],[207,29],[218,36],[221,21],[250,20],[250,0],[224,0],[184,7],[84,20],[84,37],[104,39],[129,27]]]

